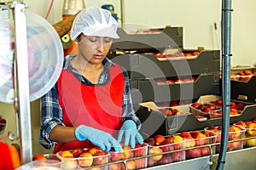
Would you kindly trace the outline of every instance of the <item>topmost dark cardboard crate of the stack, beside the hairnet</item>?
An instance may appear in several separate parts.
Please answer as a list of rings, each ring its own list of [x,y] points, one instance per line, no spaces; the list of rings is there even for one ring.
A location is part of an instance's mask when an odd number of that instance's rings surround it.
[[[156,30],[156,29],[154,29]],[[160,49],[165,47],[183,47],[183,27],[166,27],[157,29],[157,34],[127,34],[123,28],[118,28],[119,39],[113,40],[110,51]]]

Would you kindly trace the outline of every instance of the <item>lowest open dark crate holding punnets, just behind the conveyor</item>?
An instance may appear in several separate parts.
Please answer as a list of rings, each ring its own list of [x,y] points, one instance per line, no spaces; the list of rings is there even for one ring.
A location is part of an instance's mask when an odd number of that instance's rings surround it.
[[[256,118],[256,105],[247,102],[242,103],[245,105],[243,111],[241,111],[239,116],[230,116],[230,124],[238,121],[251,121],[253,118]],[[189,110],[189,105],[180,105],[180,107],[187,107],[186,109]],[[137,116],[143,122],[140,132],[145,138],[152,137],[155,134],[172,135],[183,131],[193,131],[209,126],[220,126],[222,124],[221,118],[203,121],[198,120],[195,114],[188,112],[170,116],[166,113],[156,111],[147,105],[134,105],[134,108]]]

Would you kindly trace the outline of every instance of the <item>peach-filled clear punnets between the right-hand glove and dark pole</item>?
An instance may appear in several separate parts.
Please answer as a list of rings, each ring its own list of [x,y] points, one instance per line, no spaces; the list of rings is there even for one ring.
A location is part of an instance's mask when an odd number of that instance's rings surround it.
[[[162,154],[160,156],[148,157],[148,167],[183,161],[201,156],[209,156],[210,148],[206,144],[216,143],[217,135],[212,132],[192,131],[177,133],[172,136],[155,135],[154,138],[146,139],[148,143],[148,154],[153,155],[166,151],[177,150],[172,153]],[[201,146],[198,148],[193,148]],[[178,151],[183,148],[193,148],[185,151]],[[214,154],[214,146],[212,146]]]

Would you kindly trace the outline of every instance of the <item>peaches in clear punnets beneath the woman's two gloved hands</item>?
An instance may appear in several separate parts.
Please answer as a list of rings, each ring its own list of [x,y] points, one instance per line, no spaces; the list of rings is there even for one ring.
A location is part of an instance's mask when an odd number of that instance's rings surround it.
[[[141,169],[147,167],[147,158],[138,158],[131,161],[126,161],[133,157],[146,156],[148,154],[148,144],[136,144],[135,149],[130,145],[123,146],[124,152],[103,151],[98,147],[90,149],[78,148],[75,150],[63,150],[56,154],[63,162],[62,167],[65,170],[72,169],[90,169],[90,170],[125,170],[125,169]],[[33,156],[35,160],[46,160],[44,155]],[[120,161],[115,162],[114,161]],[[104,165],[108,162],[113,162],[110,165]],[[90,168],[91,167],[91,168]]]

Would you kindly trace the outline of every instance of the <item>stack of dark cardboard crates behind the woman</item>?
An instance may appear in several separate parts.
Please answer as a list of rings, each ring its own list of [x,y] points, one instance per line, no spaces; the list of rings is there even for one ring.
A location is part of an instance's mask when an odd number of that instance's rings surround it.
[[[153,101],[167,103],[198,99],[205,94],[219,94],[220,51],[203,48],[183,48],[183,27],[166,27],[156,34],[126,34],[118,30],[120,38],[113,41],[108,58],[122,65],[129,73],[131,96],[137,116],[143,122],[141,132],[152,136],[156,133],[177,133],[187,126],[188,116],[167,116],[148,110],[139,104]],[[156,54],[177,50],[182,54],[197,52],[191,58],[162,59]],[[169,56],[169,55],[168,55]],[[159,83],[169,78],[193,78],[192,82]],[[195,118],[194,116],[192,118]],[[151,132],[152,131],[152,132]]]

